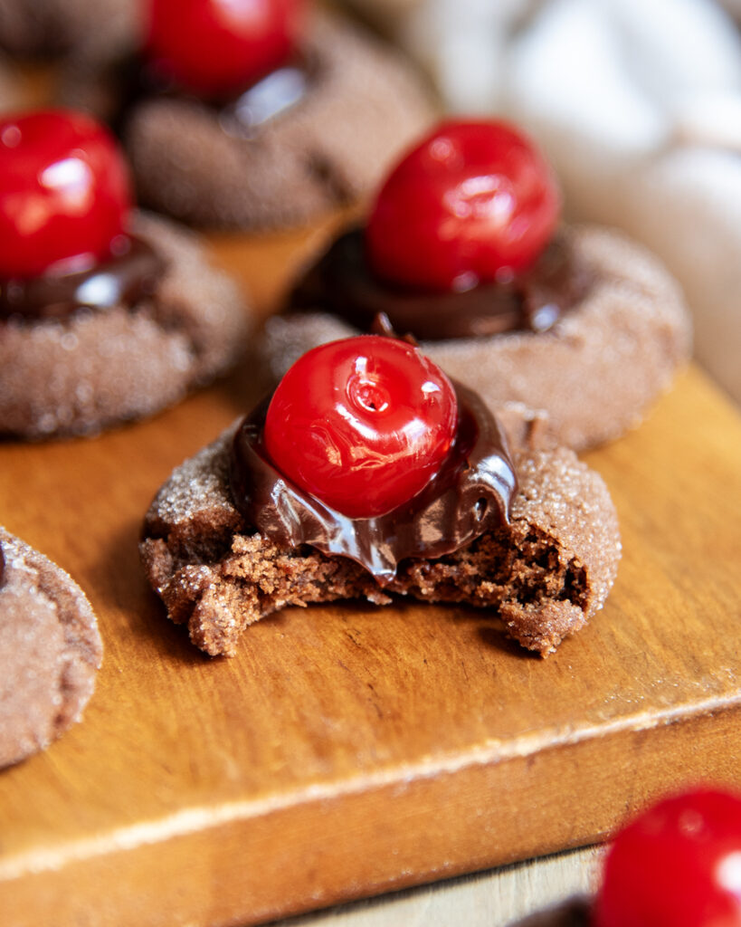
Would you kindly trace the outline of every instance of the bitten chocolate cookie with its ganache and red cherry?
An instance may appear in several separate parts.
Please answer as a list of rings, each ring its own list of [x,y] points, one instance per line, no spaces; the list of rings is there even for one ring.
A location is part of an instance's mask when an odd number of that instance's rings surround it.
[[[357,337],[308,352],[174,471],[144,520],[144,570],[208,654],[285,605],[391,596],[495,609],[556,650],[604,604],[620,559],[599,476],[417,349]]]

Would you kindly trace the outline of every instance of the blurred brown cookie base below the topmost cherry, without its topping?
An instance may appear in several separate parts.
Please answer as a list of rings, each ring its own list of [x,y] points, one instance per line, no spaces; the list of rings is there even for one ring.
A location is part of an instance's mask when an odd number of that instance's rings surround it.
[[[137,102],[124,142],[140,200],[204,225],[308,222],[370,190],[433,119],[411,68],[341,19],[314,16],[299,57],[306,94],[249,136],[194,99]]]

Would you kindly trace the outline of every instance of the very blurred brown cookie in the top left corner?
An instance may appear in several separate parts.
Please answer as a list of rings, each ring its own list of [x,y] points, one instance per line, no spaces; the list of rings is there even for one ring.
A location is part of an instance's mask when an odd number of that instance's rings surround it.
[[[94,41],[132,41],[131,0],[0,0],[0,47],[21,56],[65,54]]]

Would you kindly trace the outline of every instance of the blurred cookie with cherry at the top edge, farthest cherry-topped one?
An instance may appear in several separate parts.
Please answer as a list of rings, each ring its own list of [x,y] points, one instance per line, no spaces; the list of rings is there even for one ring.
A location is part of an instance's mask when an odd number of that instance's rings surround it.
[[[203,0],[150,0],[144,47],[78,57],[65,97],[113,121],[141,201],[245,229],[352,203],[433,119],[412,66],[298,0],[240,0],[229,29]],[[254,19],[254,21],[253,21]]]

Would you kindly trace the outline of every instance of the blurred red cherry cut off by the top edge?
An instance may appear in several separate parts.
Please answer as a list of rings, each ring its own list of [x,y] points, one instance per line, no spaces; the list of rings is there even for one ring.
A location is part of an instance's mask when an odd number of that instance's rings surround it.
[[[291,55],[306,0],[148,0],[157,70],[204,96],[237,93]]]

